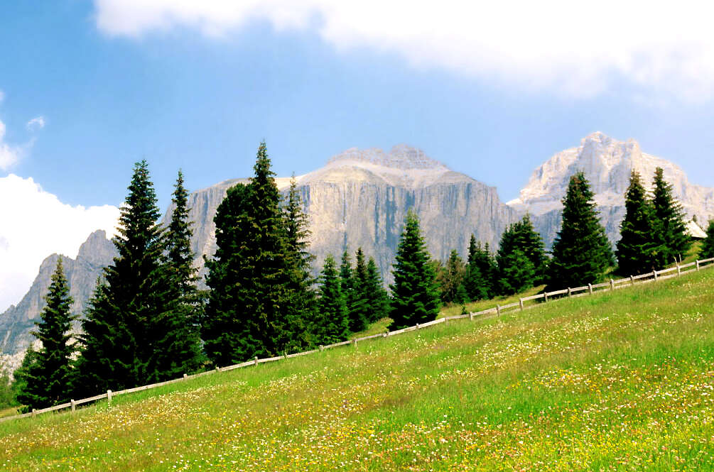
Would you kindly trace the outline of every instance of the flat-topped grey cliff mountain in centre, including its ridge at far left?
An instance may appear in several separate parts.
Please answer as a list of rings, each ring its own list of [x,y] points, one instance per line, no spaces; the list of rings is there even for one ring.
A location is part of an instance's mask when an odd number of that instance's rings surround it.
[[[452,249],[466,256],[472,232],[496,247],[501,232],[518,218],[516,210],[499,200],[496,188],[456,173],[407,145],[395,146],[388,152],[351,148],[328,160],[323,168],[296,180],[310,221],[309,250],[316,255],[315,273],[326,255],[339,257],[345,249],[354,253],[362,247],[368,257],[375,258],[386,280],[391,281],[391,265],[410,208],[421,218],[431,254],[441,260]],[[201,274],[203,256],[211,257],[216,251],[216,208],[228,188],[247,181],[225,180],[188,197],[188,217],[193,222],[191,248],[196,254],[194,265]],[[285,194],[290,178],[278,178],[276,183]],[[166,210],[162,220],[165,225],[172,211],[173,207]],[[14,354],[29,345],[29,330],[39,317],[56,257],[59,256],[52,255],[43,262],[30,291],[17,307],[0,314],[1,352]],[[64,258],[75,299],[73,312],[84,310],[101,267],[108,265],[112,257],[114,246],[104,232],[95,232],[81,247],[76,260]]]

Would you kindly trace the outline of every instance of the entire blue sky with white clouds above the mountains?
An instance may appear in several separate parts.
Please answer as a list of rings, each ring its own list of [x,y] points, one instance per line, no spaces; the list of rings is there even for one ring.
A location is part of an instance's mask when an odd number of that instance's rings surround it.
[[[0,2],[0,312],[114,231],[136,161],[164,210],[352,147],[423,149],[513,199],[595,130],[714,187],[706,2]]]

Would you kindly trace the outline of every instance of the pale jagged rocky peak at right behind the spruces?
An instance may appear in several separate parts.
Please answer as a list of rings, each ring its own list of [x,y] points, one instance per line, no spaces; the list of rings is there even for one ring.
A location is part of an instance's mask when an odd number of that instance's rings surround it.
[[[540,165],[521,190],[520,197],[508,205],[519,212],[530,212],[536,230],[550,247],[560,230],[563,208],[560,200],[568,188],[570,176],[582,170],[595,193],[605,231],[615,242],[620,238],[620,222],[625,217],[625,191],[630,171],[637,170],[645,188],[651,189],[658,167],[663,168],[665,180],[673,185],[673,193],[689,217],[707,221],[714,215],[714,189],[689,183],[678,165],[643,153],[637,141],[618,141],[600,132],[583,138],[578,148],[563,150]]]

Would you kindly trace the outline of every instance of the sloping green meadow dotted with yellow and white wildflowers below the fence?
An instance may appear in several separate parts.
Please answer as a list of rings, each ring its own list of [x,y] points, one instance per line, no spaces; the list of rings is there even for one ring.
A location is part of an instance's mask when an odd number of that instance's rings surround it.
[[[714,469],[714,270],[0,424],[3,471]]]

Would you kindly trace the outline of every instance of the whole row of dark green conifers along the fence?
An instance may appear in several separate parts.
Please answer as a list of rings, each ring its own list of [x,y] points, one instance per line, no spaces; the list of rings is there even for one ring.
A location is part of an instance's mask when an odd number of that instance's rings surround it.
[[[576,173],[563,197],[563,222],[550,257],[526,215],[503,232],[495,254],[471,235],[466,262],[456,250],[446,262],[435,261],[410,210],[389,292],[373,257],[361,248],[354,263],[348,251],[339,265],[328,255],[314,278],[296,181],[283,201],[263,142],[253,177],[228,189],[216,210],[217,249],[210,259],[204,256],[208,289],[202,291],[181,172],[166,227],[159,225],[146,161],[135,165],[128,190],[113,240],[117,256],[97,281],[76,337],[69,284],[58,260],[33,332],[41,348],[29,349],[15,373],[16,399],[28,409],[340,342],[380,319],[391,318],[392,329],[428,322],[442,304],[539,284],[598,282],[613,265],[594,195],[583,173]],[[651,199],[633,173],[626,208],[616,253],[620,270],[651,270],[688,249],[683,213],[660,169]],[[714,239],[712,225],[710,232]]]

